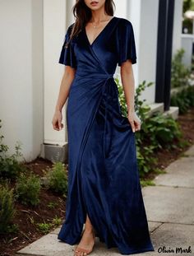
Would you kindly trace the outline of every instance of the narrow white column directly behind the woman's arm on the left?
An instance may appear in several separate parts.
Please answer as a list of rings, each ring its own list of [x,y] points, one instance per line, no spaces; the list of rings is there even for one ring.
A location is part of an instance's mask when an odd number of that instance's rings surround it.
[[[67,29],[66,2],[44,0],[44,143],[61,146],[67,141],[67,127],[59,132],[53,130],[52,119],[64,72],[64,66],[58,63],[58,59]],[[62,111],[64,125],[66,105]]]

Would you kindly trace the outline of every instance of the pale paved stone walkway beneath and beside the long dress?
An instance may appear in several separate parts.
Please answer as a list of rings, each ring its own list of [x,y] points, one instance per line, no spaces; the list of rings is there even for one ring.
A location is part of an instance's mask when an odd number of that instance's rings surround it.
[[[155,186],[142,189],[151,240],[155,252],[143,255],[194,255],[194,146],[166,169],[166,174],[155,177]],[[19,255],[72,256],[76,245],[57,239],[58,229],[17,252]],[[176,248],[192,253],[176,253]],[[159,253],[165,247],[169,253]],[[174,250],[174,252],[173,252]],[[96,238],[91,255],[121,255],[117,249],[106,249]],[[137,254],[133,254],[137,255]]]

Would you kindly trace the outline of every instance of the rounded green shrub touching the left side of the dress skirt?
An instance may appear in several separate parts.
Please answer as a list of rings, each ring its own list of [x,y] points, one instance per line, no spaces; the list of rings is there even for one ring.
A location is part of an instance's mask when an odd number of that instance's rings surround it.
[[[57,193],[67,194],[67,172],[62,162],[53,163],[47,173],[48,187]]]

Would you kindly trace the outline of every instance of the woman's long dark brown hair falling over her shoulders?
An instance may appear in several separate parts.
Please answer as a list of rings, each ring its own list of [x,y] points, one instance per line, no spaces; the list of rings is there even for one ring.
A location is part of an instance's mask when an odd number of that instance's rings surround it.
[[[113,0],[106,0],[104,4],[104,10],[109,16],[113,16],[115,4]],[[92,14],[89,7],[86,6],[84,0],[76,0],[75,5],[72,7],[72,12],[76,21],[72,27],[70,40],[79,34],[85,24],[90,21]],[[68,44],[69,42],[67,42]]]

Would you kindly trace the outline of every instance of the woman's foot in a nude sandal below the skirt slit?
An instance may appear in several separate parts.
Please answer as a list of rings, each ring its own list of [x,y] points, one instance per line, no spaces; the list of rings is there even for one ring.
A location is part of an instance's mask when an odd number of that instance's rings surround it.
[[[84,230],[80,243],[76,246],[75,256],[85,256],[90,254],[95,244],[95,231]]]

